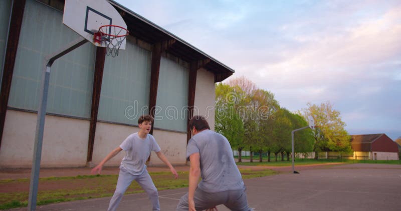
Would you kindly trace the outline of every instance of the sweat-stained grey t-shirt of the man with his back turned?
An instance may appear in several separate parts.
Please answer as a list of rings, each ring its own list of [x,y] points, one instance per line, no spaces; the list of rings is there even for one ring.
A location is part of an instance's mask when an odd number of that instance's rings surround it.
[[[199,152],[202,181],[198,188],[206,192],[220,192],[244,188],[244,181],[235,163],[227,138],[205,129],[196,133],[186,147],[186,158]]]

